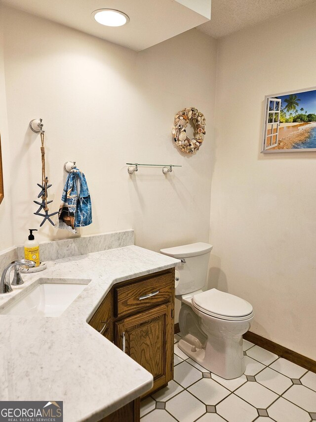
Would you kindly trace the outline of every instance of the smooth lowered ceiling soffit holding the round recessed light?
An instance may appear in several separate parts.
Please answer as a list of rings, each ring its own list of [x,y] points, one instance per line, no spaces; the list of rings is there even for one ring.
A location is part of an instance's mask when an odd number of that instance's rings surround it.
[[[211,0],[0,0],[1,3],[61,23],[136,51],[188,31],[210,17]],[[97,23],[91,13],[113,8],[130,22],[113,28]]]

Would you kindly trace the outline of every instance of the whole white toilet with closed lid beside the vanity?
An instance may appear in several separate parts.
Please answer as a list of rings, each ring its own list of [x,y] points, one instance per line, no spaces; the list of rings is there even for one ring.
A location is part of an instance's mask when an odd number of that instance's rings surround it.
[[[253,309],[246,300],[216,288],[201,290],[212,248],[199,242],[160,252],[182,261],[176,269],[176,297],[182,302],[179,348],[212,373],[237,378],[245,371],[242,334],[250,328]]]

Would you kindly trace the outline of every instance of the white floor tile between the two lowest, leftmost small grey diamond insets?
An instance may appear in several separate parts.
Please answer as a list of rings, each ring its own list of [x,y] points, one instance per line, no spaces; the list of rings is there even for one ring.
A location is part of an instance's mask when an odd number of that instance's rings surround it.
[[[166,402],[166,410],[178,421],[193,422],[205,413],[206,408],[203,403],[193,397],[188,391],[182,391],[182,393]]]

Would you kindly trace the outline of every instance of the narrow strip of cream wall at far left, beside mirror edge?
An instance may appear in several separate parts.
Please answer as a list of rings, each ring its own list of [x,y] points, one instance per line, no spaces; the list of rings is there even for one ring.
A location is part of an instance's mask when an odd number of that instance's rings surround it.
[[[0,137],[2,153],[2,173],[4,180],[4,198],[0,204],[0,251],[13,244],[11,219],[11,189],[10,189],[10,149],[8,140],[8,125],[6,114],[6,93],[4,80],[4,41],[3,20],[0,13]]]

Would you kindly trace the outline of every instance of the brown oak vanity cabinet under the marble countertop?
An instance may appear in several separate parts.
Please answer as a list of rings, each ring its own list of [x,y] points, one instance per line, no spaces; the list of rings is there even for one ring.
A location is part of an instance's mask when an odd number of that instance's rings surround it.
[[[174,268],[115,284],[89,324],[153,375],[141,398],[164,387],[173,379]]]

